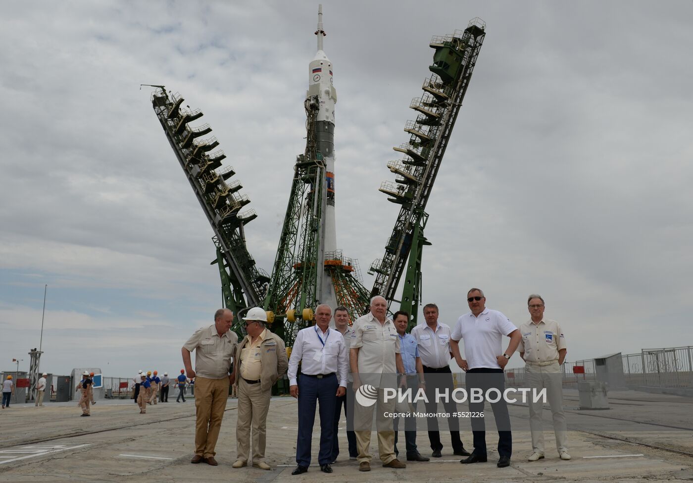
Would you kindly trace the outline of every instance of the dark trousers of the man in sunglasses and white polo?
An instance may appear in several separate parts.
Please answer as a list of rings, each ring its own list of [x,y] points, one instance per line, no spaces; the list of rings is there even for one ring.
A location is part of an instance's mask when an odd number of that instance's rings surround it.
[[[505,375],[502,369],[487,367],[469,369],[466,374],[466,388],[471,395],[472,388],[482,389],[484,396],[486,391],[495,387],[502,394],[505,391]],[[471,402],[470,412],[483,412],[484,402]],[[503,398],[498,402],[492,402],[493,418],[498,428],[498,455],[510,457],[513,452],[513,437],[510,432],[510,415],[508,406]],[[484,414],[485,416],[486,414]],[[486,456],[486,425],[484,418],[471,418],[472,434],[474,435],[474,453],[478,456]]]

